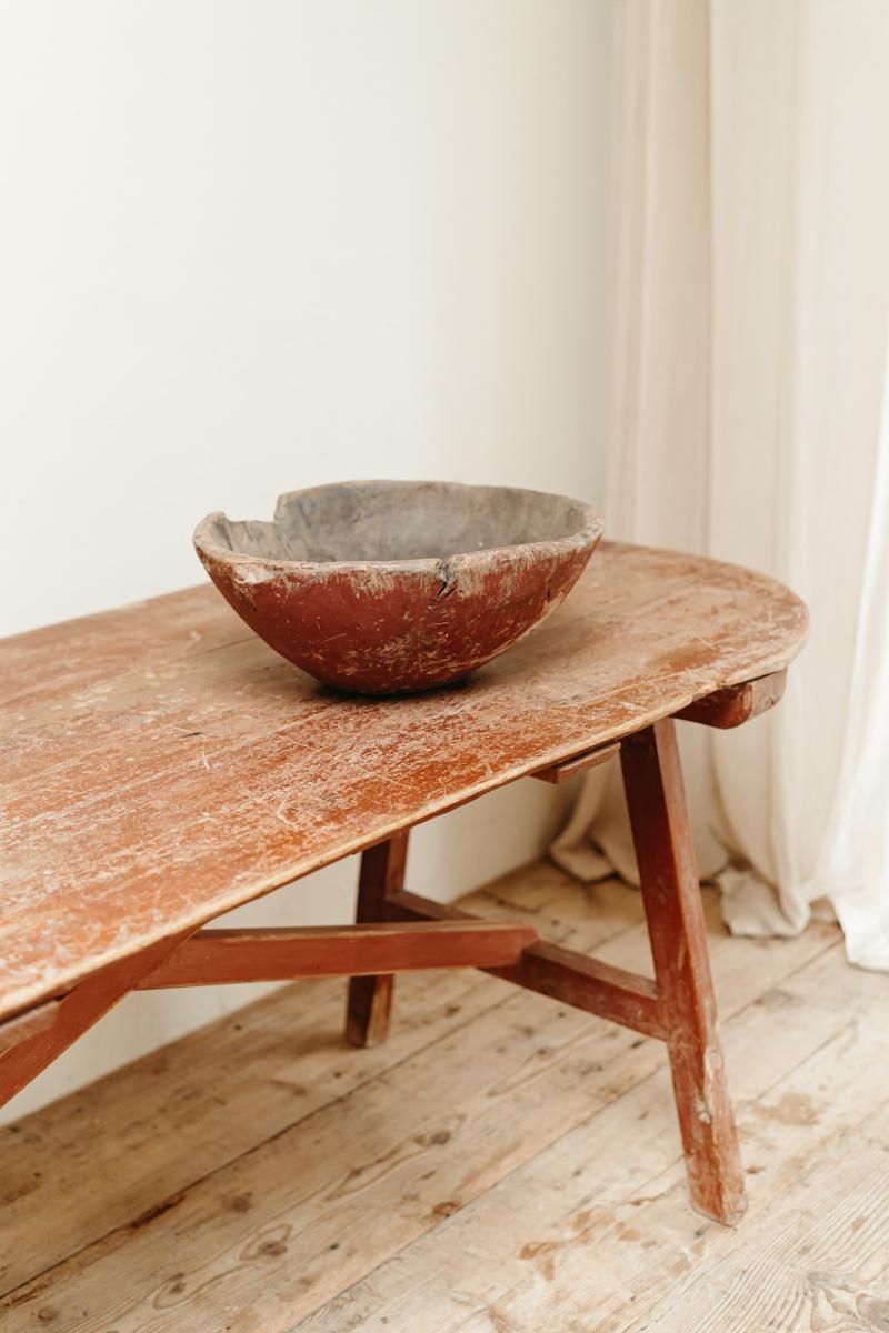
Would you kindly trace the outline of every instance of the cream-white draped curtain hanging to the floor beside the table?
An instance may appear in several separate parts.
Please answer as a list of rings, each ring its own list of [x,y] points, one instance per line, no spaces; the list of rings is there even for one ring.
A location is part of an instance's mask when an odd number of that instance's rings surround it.
[[[625,0],[614,68],[606,529],[812,611],[774,712],[681,728],[701,873],[889,968],[889,3]],[[553,854],[634,878],[614,773]]]

